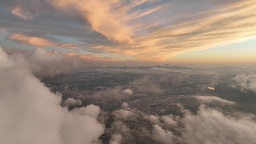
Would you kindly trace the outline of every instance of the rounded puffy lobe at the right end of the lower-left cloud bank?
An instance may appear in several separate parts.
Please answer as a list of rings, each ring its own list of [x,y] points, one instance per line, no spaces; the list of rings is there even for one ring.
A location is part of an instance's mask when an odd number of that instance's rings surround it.
[[[62,141],[65,144],[100,144],[98,137],[105,128],[97,121],[98,114],[100,108],[95,105],[76,108],[65,114],[64,126],[60,131]]]

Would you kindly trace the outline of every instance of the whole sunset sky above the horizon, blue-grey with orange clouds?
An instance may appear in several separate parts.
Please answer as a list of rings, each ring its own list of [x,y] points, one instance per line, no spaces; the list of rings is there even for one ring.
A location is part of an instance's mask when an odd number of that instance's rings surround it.
[[[255,64],[255,0],[0,0],[0,47],[94,61]]]

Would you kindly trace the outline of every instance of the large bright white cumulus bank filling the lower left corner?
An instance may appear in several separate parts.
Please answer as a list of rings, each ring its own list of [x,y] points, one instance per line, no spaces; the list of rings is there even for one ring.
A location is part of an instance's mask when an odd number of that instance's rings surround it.
[[[58,54],[53,56],[58,58]],[[38,58],[42,60],[43,55]],[[48,58],[38,65],[45,64],[44,68],[51,70],[57,65]],[[61,95],[52,93],[33,75],[30,60],[24,55],[9,56],[0,49],[0,143],[100,143],[98,137],[104,132],[104,125],[97,120],[100,108],[89,105],[68,111],[61,107]]]

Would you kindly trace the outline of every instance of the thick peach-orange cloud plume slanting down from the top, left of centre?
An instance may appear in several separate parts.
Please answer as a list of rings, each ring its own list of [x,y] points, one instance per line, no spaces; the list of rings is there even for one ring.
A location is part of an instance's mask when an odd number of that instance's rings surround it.
[[[121,43],[132,43],[133,35],[131,27],[121,21],[125,7],[122,7],[119,0],[89,0],[89,1],[67,1],[54,0],[50,2],[53,7],[74,15],[77,13],[85,21],[88,21],[92,29],[103,34],[110,40]]]

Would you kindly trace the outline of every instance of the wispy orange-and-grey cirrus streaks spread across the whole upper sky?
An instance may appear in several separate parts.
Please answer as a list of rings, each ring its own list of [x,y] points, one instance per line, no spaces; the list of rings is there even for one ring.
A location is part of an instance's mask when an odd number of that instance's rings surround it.
[[[177,0],[25,0],[24,3],[1,0],[0,4],[10,13],[26,20],[3,16],[0,27],[17,30],[14,22],[18,21],[26,30],[40,28],[49,35],[75,37],[73,43],[84,42],[80,47],[84,50],[97,49],[141,59],[164,60],[179,53],[242,42],[256,36],[256,14],[252,13],[256,10],[255,0],[186,3]],[[46,21],[40,21],[42,19]],[[45,26],[38,25],[40,22]],[[33,27],[26,27],[24,23]],[[10,24],[13,26],[9,27]]]

